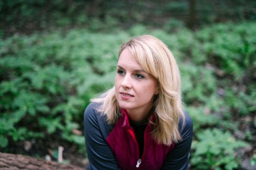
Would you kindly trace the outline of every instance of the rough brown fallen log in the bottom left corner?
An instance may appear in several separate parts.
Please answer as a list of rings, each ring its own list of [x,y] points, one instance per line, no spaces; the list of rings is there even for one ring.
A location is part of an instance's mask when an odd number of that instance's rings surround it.
[[[1,170],[85,170],[84,168],[60,164],[54,161],[46,161],[30,156],[15,155],[0,152],[0,169]]]

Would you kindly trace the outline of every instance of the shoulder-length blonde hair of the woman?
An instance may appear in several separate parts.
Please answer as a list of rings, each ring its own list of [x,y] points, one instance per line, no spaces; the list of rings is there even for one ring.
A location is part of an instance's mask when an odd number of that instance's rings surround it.
[[[159,94],[157,94],[151,107],[155,112],[156,121],[151,132],[152,138],[158,144],[171,145],[181,140],[179,133],[179,120],[184,120],[183,106],[180,90],[179,68],[168,47],[158,38],[151,35],[142,35],[131,38],[123,43],[119,55],[124,49],[129,49],[132,56],[141,67],[157,82]],[[109,123],[114,124],[122,116],[121,108],[115,96],[115,87],[103,93],[99,98],[91,99],[91,102],[102,103],[97,110],[106,115]]]

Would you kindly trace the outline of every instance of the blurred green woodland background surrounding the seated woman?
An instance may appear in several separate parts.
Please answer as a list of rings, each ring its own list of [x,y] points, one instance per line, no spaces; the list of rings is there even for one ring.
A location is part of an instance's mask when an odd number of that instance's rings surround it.
[[[256,169],[255,0],[0,0],[0,151],[85,167],[83,112],[122,42],[173,52],[194,123],[189,169]]]

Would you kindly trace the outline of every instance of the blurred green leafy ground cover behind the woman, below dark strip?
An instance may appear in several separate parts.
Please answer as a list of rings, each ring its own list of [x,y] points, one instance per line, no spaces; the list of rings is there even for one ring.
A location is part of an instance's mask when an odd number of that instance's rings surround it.
[[[83,111],[90,98],[113,86],[122,42],[146,33],[167,44],[179,64],[185,110],[194,123],[190,168],[253,166],[256,23],[213,24],[196,32],[176,26],[173,33],[168,24],[137,24],[114,33],[71,29],[0,39],[1,151],[44,157],[62,145],[64,159],[82,166]]]

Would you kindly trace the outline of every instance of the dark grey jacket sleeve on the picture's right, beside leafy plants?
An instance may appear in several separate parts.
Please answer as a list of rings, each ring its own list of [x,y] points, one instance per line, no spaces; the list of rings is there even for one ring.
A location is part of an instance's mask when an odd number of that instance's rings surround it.
[[[174,148],[167,153],[162,170],[175,169],[187,170],[190,157],[190,147],[193,137],[193,122],[185,113],[185,124],[181,129],[182,140],[175,144]],[[182,123],[179,123],[182,124]],[[180,127],[180,126],[179,126]]]

